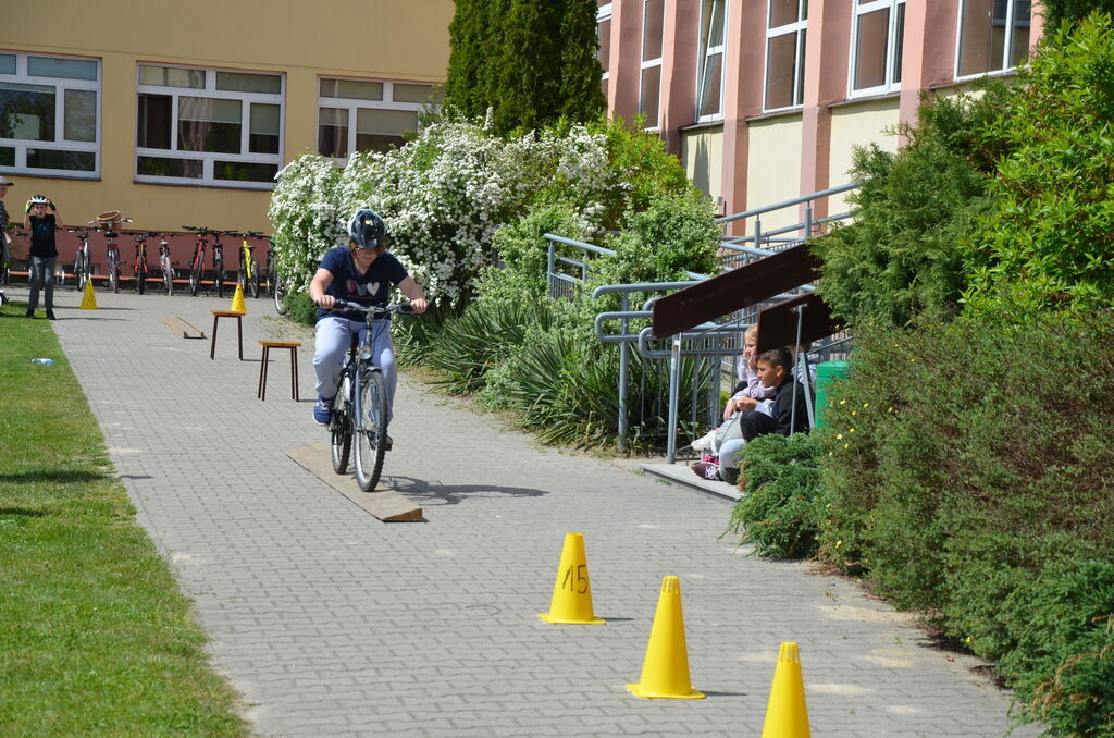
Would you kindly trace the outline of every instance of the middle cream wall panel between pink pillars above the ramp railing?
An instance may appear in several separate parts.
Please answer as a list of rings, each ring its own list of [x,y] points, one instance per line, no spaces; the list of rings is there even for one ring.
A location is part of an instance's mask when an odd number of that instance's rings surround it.
[[[772,205],[801,194],[801,116],[775,116],[754,120],[747,128],[746,210]],[[762,230],[771,231],[801,221],[797,207],[762,216]],[[746,233],[752,233],[753,220]]]

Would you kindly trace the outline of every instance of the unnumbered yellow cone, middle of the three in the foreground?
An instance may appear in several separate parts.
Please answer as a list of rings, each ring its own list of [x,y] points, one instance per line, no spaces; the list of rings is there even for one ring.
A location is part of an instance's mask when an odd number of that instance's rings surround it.
[[[681,581],[676,576],[662,580],[657,612],[649,629],[646,658],[637,684],[627,684],[635,697],[682,700],[704,699],[688,681],[688,649],[685,645],[685,621],[681,614]]]

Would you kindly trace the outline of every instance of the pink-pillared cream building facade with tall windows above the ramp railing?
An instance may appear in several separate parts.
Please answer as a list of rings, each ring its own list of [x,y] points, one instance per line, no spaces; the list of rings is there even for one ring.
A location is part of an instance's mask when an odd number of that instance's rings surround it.
[[[723,214],[847,184],[856,145],[896,150],[922,94],[1012,74],[1042,32],[1029,0],[599,0],[598,23],[609,111],[644,116]]]

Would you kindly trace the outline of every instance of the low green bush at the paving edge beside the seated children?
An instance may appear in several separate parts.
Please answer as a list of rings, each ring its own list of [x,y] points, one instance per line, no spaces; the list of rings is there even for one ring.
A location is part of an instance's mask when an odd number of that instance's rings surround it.
[[[740,451],[739,486],[727,532],[753,543],[761,556],[805,559],[817,552],[822,517],[819,457],[823,447],[809,434],[760,436]]]

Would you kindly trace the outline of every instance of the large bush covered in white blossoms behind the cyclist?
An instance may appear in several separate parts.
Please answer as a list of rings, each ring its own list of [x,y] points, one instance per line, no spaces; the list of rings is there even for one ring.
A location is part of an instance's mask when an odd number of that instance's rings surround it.
[[[459,304],[496,261],[492,236],[535,200],[568,203],[598,227],[604,201],[620,193],[607,166],[606,138],[574,126],[566,134],[529,133],[509,142],[486,125],[446,118],[385,154],[352,156],[343,172],[303,156],[278,175],[271,220],[284,274],[304,284],[360,207],[383,216],[391,252],[436,302]]]

